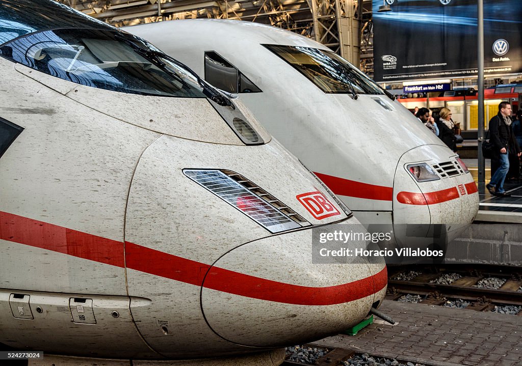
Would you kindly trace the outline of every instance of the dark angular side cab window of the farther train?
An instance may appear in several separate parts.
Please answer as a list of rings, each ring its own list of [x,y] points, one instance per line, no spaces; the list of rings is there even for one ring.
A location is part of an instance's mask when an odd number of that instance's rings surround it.
[[[262,92],[238,68],[214,51],[205,52],[205,80],[229,93]]]

